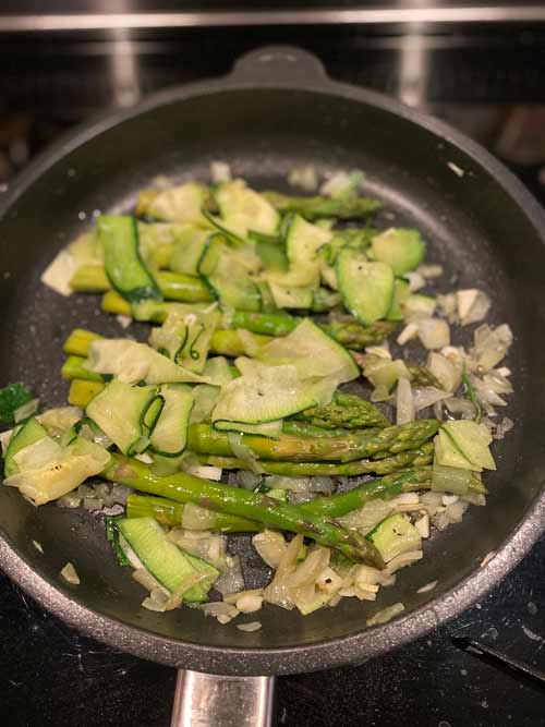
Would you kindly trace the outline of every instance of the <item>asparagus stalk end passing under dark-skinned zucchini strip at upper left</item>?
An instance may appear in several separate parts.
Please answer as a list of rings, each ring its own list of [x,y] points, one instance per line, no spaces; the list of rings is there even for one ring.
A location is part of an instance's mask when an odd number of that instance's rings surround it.
[[[213,294],[201,278],[172,270],[156,270],[154,277],[162,295],[171,301],[184,303],[206,303],[213,301]],[[102,293],[111,284],[101,265],[82,265],[70,280],[72,290],[85,293]]]

